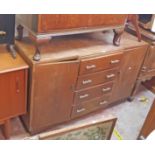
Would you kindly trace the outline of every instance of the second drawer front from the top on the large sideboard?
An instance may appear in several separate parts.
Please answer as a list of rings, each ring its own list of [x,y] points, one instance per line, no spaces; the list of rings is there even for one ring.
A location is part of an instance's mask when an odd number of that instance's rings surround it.
[[[78,77],[76,89],[84,89],[114,80],[118,76],[118,69],[110,69]]]

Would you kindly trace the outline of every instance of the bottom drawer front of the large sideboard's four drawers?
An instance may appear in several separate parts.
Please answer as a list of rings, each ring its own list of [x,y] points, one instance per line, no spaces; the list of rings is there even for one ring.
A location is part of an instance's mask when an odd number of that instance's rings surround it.
[[[103,97],[73,106],[71,117],[78,117],[84,114],[88,114],[89,112],[95,111],[97,109],[106,107],[110,103],[110,96],[111,94],[106,94]]]

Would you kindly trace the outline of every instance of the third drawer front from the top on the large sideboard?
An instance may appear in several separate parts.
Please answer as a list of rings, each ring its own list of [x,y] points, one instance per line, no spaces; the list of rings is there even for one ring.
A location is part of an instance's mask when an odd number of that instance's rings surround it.
[[[103,85],[97,85],[89,89],[75,92],[75,104],[89,101],[96,97],[102,97],[106,93],[112,91],[113,82],[109,82]]]

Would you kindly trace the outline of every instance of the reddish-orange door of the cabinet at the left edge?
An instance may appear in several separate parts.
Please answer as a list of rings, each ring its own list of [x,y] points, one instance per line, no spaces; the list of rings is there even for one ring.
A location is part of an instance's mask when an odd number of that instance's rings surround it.
[[[0,120],[26,112],[25,70],[0,74]]]

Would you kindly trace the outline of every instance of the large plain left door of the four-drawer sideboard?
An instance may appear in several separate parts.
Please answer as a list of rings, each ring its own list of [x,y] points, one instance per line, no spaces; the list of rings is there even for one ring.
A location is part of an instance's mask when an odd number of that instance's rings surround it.
[[[36,66],[31,94],[31,131],[70,119],[78,69],[78,61]]]

